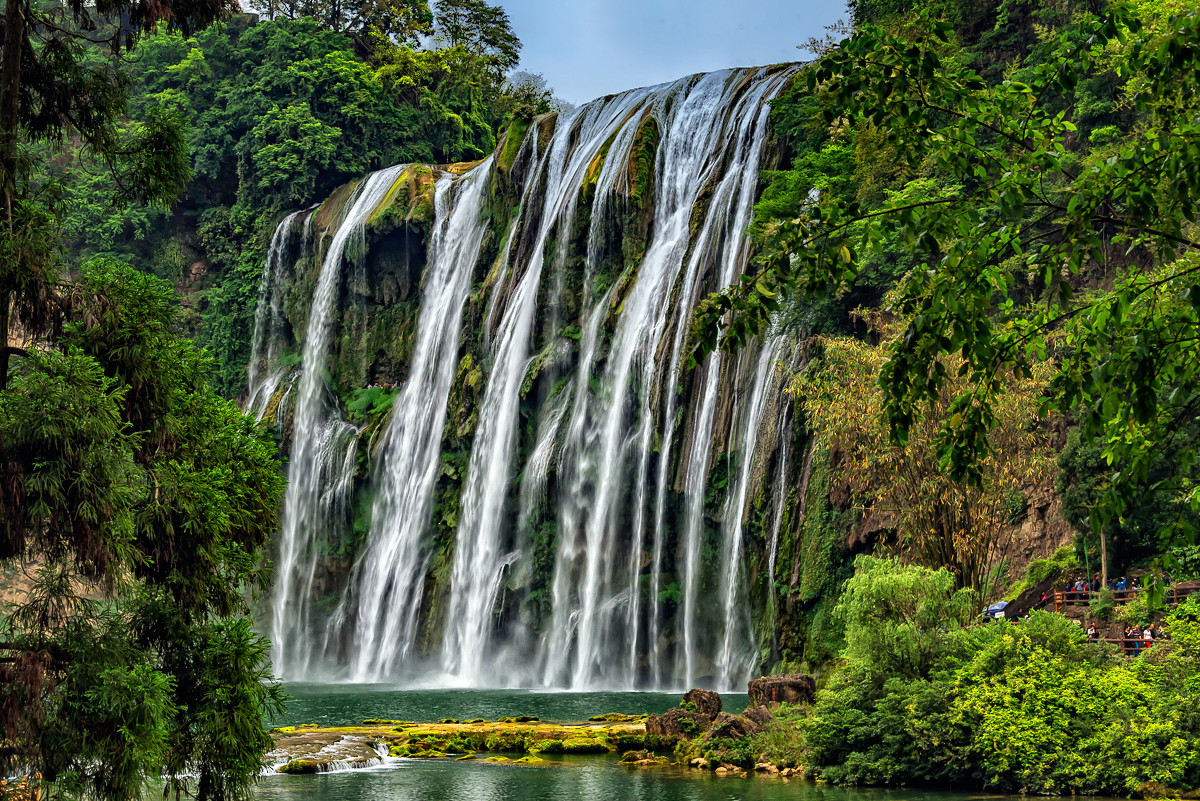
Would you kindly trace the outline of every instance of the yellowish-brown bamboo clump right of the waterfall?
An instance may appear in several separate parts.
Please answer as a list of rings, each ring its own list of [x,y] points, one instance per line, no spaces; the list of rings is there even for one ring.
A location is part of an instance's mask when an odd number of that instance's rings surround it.
[[[895,540],[881,546],[906,561],[946,567],[958,586],[989,598],[1006,578],[998,568],[1010,555],[1024,498],[1052,477],[1051,448],[1038,415],[1046,367],[1030,378],[1012,377],[978,465],[980,481],[966,482],[942,469],[936,447],[938,430],[958,424],[950,415],[953,398],[965,386],[956,375],[961,360],[937,362],[947,385],[901,445],[889,434],[876,380],[887,347],[851,338],[820,338],[816,344],[820,355],[790,390],[802,399],[810,429],[836,452],[836,478],[864,511],[890,522]]]

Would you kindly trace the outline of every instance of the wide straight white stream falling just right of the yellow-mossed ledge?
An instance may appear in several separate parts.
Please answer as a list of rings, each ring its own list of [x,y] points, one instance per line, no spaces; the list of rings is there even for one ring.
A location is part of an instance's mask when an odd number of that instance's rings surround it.
[[[446,396],[457,366],[462,305],[479,260],[490,173],[491,159],[457,182],[443,175],[434,187],[436,224],[412,369],[379,451],[379,494],[352,582],[356,614],[350,674],[356,681],[388,677],[413,652]]]

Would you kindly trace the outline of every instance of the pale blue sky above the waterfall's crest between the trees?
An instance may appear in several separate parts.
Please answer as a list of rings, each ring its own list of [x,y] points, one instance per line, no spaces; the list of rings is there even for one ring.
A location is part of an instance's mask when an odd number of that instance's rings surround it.
[[[496,2],[496,0],[491,0]],[[847,17],[845,0],[499,0],[521,68],[582,103],[692,72],[805,58],[796,46]]]

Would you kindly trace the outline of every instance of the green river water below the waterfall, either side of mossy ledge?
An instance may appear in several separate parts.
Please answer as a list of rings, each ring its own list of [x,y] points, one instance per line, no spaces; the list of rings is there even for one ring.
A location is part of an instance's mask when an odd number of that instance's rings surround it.
[[[662,712],[676,693],[538,692],[521,689],[395,689],[382,685],[289,685],[292,700],[275,723],[348,725],[367,718],[418,722],[445,717],[496,719],[536,715],[581,721],[604,712]],[[745,707],[744,694],[722,693],[726,711]],[[544,754],[538,765],[484,760],[388,759],[383,765],[316,776],[270,775],[254,790],[260,801],[978,801],[979,794],[820,785],[762,775],[718,777],[678,765],[630,767],[618,754]],[[988,795],[1003,801],[1007,796]],[[1014,796],[1015,801],[1015,796]]]

